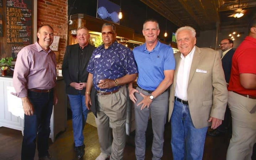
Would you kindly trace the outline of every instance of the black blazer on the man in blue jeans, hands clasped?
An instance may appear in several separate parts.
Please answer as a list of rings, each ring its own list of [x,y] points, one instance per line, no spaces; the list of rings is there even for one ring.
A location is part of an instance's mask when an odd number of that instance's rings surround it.
[[[91,58],[92,52],[94,51],[95,47],[88,44],[86,47],[87,53],[85,56],[85,64],[84,69],[82,72],[82,79],[80,79],[81,82],[87,82],[88,78],[88,72],[86,71],[87,64]],[[71,82],[79,83],[78,81],[78,75],[79,75],[79,68],[78,68],[78,57],[79,57],[79,44],[69,45],[66,47],[63,64],[62,64],[62,76],[66,82],[66,93],[72,94],[72,95],[78,95],[79,90],[76,90],[75,88],[71,87],[69,84]],[[85,88],[82,90],[82,92],[85,92]]]

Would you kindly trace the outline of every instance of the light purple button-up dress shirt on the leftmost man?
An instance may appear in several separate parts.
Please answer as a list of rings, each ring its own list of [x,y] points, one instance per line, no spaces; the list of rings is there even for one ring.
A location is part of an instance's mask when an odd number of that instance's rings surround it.
[[[13,85],[17,97],[27,96],[27,89],[51,89],[56,85],[56,56],[44,51],[36,42],[17,55]]]

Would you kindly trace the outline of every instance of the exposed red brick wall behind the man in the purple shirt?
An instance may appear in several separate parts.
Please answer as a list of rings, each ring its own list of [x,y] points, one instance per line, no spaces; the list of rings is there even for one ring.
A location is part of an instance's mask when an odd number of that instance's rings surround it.
[[[2,7],[0,7],[0,14],[2,15],[3,37],[0,37],[0,58],[10,57],[10,46],[6,44],[6,7],[5,2],[2,1]],[[57,69],[61,67],[62,60],[65,53],[67,42],[67,0],[37,0],[37,27],[33,27],[32,30],[37,32],[39,26],[42,24],[49,24],[54,29],[54,35],[60,36],[58,51],[55,51],[57,58]],[[33,39],[32,43],[37,39]]]

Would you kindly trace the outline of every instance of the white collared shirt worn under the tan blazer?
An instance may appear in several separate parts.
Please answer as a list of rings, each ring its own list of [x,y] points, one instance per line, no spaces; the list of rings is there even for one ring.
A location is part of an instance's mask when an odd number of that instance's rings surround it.
[[[190,75],[190,68],[194,56],[194,51],[195,47],[186,57],[184,57],[183,54],[181,54],[180,65],[178,67],[177,73],[175,96],[182,100],[187,100],[188,78]]]

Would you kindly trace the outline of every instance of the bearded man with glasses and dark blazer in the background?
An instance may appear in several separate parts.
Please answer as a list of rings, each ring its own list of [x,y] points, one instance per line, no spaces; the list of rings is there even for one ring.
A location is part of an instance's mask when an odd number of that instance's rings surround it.
[[[232,67],[232,57],[235,53],[235,50],[233,49],[233,40],[225,38],[220,42],[220,49],[223,51],[222,53],[222,68],[224,70],[225,80],[228,87],[229,84],[229,78],[231,73],[231,67]],[[223,133],[225,133],[228,128],[230,127],[231,119],[230,119],[230,110],[229,107],[226,107],[226,112],[224,116],[224,120],[222,121],[222,124],[213,131],[208,131],[208,136],[221,136]]]

